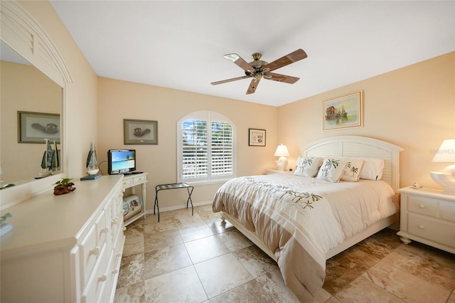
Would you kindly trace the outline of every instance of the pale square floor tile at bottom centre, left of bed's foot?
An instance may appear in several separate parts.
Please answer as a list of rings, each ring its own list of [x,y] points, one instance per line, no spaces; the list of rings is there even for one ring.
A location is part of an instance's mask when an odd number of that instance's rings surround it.
[[[209,299],[253,280],[234,255],[222,255],[194,265]]]

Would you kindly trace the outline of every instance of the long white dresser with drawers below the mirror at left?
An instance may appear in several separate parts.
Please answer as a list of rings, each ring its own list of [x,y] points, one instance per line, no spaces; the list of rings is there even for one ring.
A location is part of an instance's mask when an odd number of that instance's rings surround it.
[[[122,176],[75,181],[6,209],[1,302],[112,302],[124,245]]]

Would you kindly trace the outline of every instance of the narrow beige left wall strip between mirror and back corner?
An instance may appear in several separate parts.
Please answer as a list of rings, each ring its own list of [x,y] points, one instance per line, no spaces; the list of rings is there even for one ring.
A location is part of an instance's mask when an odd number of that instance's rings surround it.
[[[66,144],[70,177],[85,175],[90,142],[97,142],[97,75],[48,1],[18,1],[48,34],[68,66],[73,83],[65,87]]]

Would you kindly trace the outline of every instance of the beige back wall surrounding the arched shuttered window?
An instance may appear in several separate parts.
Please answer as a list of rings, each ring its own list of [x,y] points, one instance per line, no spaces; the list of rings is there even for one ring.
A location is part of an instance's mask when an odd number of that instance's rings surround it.
[[[98,79],[98,161],[107,149],[136,149],[137,170],[149,173],[147,208],[153,208],[156,184],[177,181],[177,121],[190,112],[213,110],[237,127],[237,176],[265,174],[274,167],[277,148],[277,107],[201,95],[109,78]],[[123,119],[158,121],[158,145],[124,145]],[[248,129],[266,129],[266,147],[248,146]],[[107,163],[100,168],[107,174]],[[196,186],[193,202],[211,201],[220,184]],[[161,191],[160,208],[181,206],[186,191]]]

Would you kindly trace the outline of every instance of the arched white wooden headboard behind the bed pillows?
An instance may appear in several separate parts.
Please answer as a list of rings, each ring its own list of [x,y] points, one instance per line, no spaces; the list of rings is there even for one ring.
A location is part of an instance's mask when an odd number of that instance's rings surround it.
[[[397,145],[361,136],[328,137],[301,149],[303,156],[355,156],[384,159],[382,181],[397,192],[400,188],[400,151]]]

